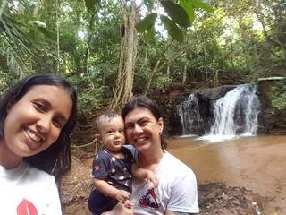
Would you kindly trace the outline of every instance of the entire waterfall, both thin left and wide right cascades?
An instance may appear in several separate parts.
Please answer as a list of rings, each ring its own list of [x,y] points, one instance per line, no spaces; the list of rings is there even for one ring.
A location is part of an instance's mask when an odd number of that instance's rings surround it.
[[[219,95],[220,92],[214,91],[214,95]],[[243,84],[223,95],[214,100],[206,99],[215,98],[214,96],[197,97],[197,93],[192,93],[183,99],[175,111],[177,131],[181,135],[199,135],[205,132],[206,135],[200,139],[211,142],[238,135],[255,135],[260,108],[257,86]]]

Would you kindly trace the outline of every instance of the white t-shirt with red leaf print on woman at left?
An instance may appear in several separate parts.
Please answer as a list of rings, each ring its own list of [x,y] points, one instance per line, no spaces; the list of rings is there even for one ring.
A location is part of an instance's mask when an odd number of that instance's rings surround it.
[[[0,214],[61,215],[54,176],[26,162],[9,170],[0,166]]]

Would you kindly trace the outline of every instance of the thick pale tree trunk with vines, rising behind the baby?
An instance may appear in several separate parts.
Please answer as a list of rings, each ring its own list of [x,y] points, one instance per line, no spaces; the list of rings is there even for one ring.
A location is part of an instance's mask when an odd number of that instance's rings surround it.
[[[121,109],[132,97],[134,67],[137,57],[138,37],[135,25],[139,20],[135,0],[122,5],[125,33],[122,37],[121,56],[117,80],[114,86],[114,99],[110,104],[113,110]]]

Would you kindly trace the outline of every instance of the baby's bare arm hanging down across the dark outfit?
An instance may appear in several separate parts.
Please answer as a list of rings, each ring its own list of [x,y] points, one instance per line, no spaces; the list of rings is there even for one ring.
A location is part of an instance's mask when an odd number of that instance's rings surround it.
[[[109,185],[105,180],[94,178],[94,185],[100,191],[111,198],[117,199],[118,202],[124,203],[130,198],[130,193],[124,190],[119,190],[113,185]]]

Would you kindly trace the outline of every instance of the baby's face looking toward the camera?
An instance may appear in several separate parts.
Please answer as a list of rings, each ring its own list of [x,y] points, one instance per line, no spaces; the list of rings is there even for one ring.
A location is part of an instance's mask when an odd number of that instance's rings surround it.
[[[105,150],[117,152],[122,149],[125,143],[124,122],[121,116],[115,116],[111,120],[106,120],[100,126],[101,140]]]

